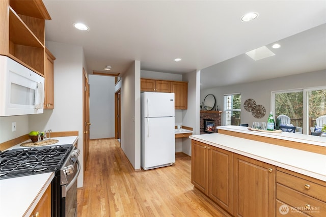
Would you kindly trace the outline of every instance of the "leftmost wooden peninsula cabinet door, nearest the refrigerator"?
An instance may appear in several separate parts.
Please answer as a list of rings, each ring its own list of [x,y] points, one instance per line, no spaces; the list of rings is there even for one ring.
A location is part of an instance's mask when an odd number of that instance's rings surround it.
[[[207,145],[192,141],[192,183],[197,189],[208,194]]]

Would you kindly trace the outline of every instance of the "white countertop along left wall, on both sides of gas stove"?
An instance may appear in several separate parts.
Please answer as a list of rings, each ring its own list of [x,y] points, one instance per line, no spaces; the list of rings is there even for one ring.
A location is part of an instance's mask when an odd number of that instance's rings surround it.
[[[55,137],[51,139],[59,140],[59,142],[52,145],[75,145],[78,136]],[[30,140],[24,142],[27,141]],[[9,149],[31,148],[22,147],[20,144]],[[0,180],[0,215],[30,216],[54,176],[54,173],[51,172]]]

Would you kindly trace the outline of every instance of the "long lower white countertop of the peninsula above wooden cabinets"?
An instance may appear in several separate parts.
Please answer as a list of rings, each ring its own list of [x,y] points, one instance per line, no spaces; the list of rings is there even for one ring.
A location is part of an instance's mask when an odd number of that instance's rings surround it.
[[[253,132],[255,133],[255,131]],[[219,133],[193,135],[189,138],[326,181],[326,156],[323,154]]]

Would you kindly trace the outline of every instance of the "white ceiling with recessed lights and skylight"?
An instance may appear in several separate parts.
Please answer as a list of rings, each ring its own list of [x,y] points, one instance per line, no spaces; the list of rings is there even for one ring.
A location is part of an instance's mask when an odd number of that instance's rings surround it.
[[[326,0],[43,2],[52,18],[46,40],[83,46],[89,74],[107,65],[123,74],[140,60],[148,71],[201,70],[208,88],[326,69]],[[259,17],[241,22],[248,12]],[[275,56],[254,61],[243,54],[274,42],[282,45]]]

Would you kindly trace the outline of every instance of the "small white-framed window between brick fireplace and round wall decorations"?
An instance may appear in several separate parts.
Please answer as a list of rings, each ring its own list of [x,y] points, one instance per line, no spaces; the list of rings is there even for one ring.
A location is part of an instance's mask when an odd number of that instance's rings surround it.
[[[224,125],[239,125],[241,120],[241,94],[224,95]]]

